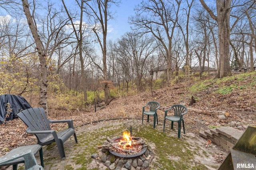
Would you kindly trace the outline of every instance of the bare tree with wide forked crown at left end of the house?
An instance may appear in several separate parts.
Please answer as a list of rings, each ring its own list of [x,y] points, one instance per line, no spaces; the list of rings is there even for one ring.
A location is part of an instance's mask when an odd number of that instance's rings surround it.
[[[142,1],[136,8],[136,16],[129,22],[140,33],[152,33],[164,48],[167,64],[167,79],[172,76],[172,39],[180,12],[181,0]]]

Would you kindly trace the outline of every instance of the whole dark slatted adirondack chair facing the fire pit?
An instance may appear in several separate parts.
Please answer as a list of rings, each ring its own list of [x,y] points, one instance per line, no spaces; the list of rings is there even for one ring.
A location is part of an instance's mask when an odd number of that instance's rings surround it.
[[[72,135],[76,139],[73,120],[50,120],[47,119],[42,107],[30,108],[18,113],[18,117],[28,126],[26,132],[36,135],[37,143],[44,146],[56,142],[60,158],[65,159],[63,143]],[[50,123],[68,123],[68,129],[56,132],[50,129]]]

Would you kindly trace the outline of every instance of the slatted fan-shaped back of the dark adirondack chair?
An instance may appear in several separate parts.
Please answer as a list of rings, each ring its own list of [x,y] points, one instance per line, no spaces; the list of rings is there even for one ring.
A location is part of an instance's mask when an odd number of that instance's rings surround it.
[[[51,130],[50,123],[42,107],[23,110],[19,113],[19,117],[31,131]],[[38,144],[42,142],[42,139],[45,139],[46,137],[50,136],[50,134],[46,133],[37,133],[35,135],[38,139]]]

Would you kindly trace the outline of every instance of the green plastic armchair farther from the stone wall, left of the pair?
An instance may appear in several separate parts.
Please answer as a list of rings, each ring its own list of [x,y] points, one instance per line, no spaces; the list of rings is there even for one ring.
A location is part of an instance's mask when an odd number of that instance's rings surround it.
[[[149,107],[149,110],[146,111],[145,108],[148,108]],[[157,124],[158,124],[158,118],[157,118],[157,113],[156,113],[156,110],[160,108],[160,104],[158,102],[154,102],[154,101],[151,101],[151,102],[148,102],[146,104],[146,106],[143,106],[142,107],[142,125],[143,125],[143,116],[144,114],[145,115],[148,115],[148,121],[149,121],[149,116],[152,115],[154,116],[154,128],[156,127],[156,121],[157,121]]]

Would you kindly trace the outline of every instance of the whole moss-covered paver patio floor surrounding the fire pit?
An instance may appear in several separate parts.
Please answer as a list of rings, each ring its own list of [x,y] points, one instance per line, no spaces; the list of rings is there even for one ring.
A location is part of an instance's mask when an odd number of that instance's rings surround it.
[[[64,143],[65,160],[60,160],[55,144],[43,147],[45,169],[87,170],[92,162],[91,155],[99,152],[98,145],[102,145],[106,137],[119,137],[123,131],[130,131],[131,125],[132,136],[143,137],[149,144],[149,149],[154,152],[156,159],[150,164],[149,170],[207,170],[217,169],[219,166],[217,162],[208,164],[204,161],[209,160],[208,157],[214,153],[202,148],[204,141],[198,141],[198,137],[182,133],[178,139],[176,127],[170,129],[170,126],[166,126],[166,131],[163,132],[161,123],[154,129],[152,122],[141,125],[141,120],[120,119],[78,127],[78,144],[74,142],[74,137]]]

